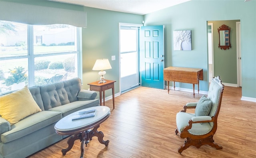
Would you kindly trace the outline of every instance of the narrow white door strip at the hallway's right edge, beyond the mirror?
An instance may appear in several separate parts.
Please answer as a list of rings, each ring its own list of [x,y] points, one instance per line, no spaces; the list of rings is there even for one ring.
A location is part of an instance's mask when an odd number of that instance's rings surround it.
[[[236,71],[237,87],[242,87],[241,22],[236,22]]]

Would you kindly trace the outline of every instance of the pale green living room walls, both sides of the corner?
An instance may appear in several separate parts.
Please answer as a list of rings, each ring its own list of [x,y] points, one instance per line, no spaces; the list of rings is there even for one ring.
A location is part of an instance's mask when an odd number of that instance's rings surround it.
[[[115,61],[110,60],[112,69],[106,70],[105,75],[106,79],[117,81],[115,93],[119,92],[119,22],[141,24],[144,19],[146,26],[165,25],[165,67],[203,68],[204,81],[200,81],[200,90],[208,91],[207,22],[240,20],[242,96],[256,98],[256,0],[192,0],[145,16],[46,0],[16,2],[86,11],[88,26],[82,29],[83,89],[89,87],[87,83],[98,79],[98,72],[92,71],[96,59],[111,59],[112,55],[116,55]],[[173,50],[174,30],[192,30],[192,51]],[[186,83],[176,86],[192,89],[192,86]],[[108,91],[106,96],[109,95],[111,92]]]

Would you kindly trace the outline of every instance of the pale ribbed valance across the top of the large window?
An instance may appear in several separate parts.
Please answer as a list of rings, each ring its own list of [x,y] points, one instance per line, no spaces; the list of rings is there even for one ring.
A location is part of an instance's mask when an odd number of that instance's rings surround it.
[[[87,27],[87,13],[77,10],[0,1],[0,20],[31,25],[69,24]]]

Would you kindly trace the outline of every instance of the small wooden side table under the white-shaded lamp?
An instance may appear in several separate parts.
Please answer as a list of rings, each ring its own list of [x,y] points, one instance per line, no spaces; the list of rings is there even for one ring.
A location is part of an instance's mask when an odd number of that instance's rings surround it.
[[[99,83],[99,81],[95,81],[92,83],[88,83],[90,85],[91,91],[99,91],[100,92],[100,105],[102,105],[102,92],[103,92],[103,105],[105,106],[105,90],[112,88],[112,97],[113,97],[113,109],[115,109],[115,90],[114,83],[116,81],[105,79],[105,83]]]

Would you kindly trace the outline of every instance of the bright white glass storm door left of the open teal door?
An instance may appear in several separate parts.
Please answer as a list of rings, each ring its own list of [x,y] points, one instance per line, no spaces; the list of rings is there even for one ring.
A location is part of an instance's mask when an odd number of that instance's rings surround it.
[[[119,24],[120,92],[140,86],[138,24]]]

